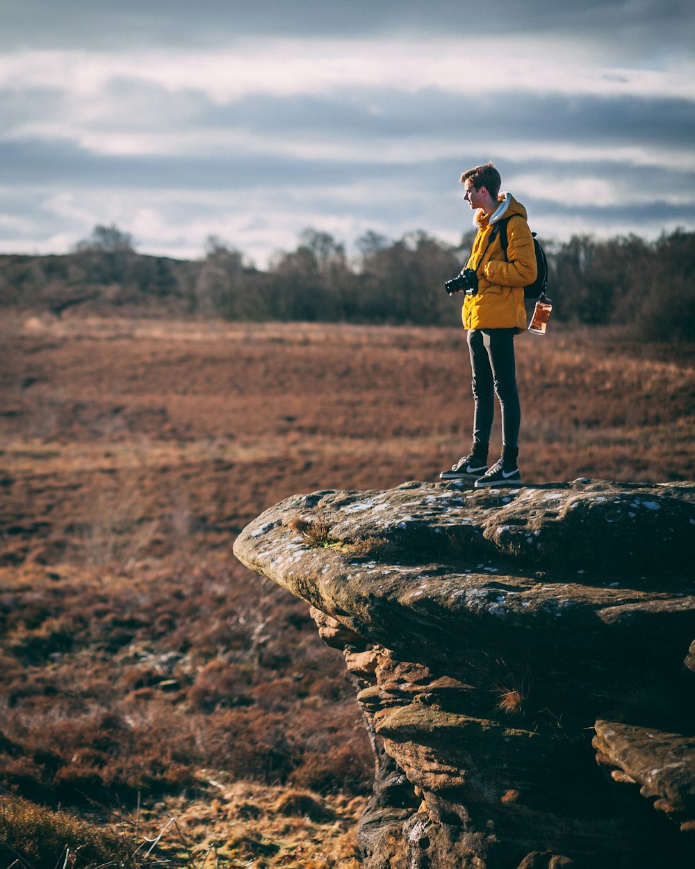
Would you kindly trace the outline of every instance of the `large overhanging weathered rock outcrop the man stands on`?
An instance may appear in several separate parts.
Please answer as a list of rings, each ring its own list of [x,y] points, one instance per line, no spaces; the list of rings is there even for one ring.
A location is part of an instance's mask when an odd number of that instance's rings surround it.
[[[693,483],[408,482],[245,528],[359,687],[367,869],[695,865],[693,543]]]

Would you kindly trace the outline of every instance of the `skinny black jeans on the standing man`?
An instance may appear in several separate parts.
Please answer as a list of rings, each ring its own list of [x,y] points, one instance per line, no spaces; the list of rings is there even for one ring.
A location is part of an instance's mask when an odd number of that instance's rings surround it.
[[[473,441],[489,443],[493,428],[494,394],[502,408],[502,446],[519,447],[521,407],[516,386],[513,328],[468,329],[473,371]]]

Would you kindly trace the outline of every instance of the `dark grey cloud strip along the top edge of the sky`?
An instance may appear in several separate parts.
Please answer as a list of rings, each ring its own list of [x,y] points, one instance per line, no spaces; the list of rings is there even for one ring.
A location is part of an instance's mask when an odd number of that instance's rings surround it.
[[[692,46],[689,0],[3,0],[0,44],[8,48],[142,45],[211,46],[243,36],[378,37],[589,36],[612,44],[616,55],[648,50],[667,37]],[[482,30],[482,32],[481,32]],[[616,33],[626,38],[616,40]],[[629,38],[627,38],[629,37]],[[466,43],[470,50],[470,43]]]

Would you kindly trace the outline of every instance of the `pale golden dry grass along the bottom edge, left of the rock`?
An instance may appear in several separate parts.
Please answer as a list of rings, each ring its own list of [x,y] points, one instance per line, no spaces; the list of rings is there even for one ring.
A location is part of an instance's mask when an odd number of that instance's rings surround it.
[[[200,784],[202,798],[107,812],[106,823],[0,797],[0,866],[358,869],[354,824],[365,798],[248,782],[222,785],[209,776]]]

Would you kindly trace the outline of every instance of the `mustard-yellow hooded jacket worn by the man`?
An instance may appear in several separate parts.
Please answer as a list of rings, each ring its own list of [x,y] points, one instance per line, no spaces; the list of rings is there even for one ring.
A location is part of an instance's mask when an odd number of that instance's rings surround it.
[[[506,224],[506,256],[495,224],[502,217],[520,215],[523,220]],[[524,287],[536,279],[533,235],[526,223],[526,209],[510,193],[500,193],[500,206],[492,215],[475,212],[473,226],[478,235],[466,269],[478,275],[478,294],[467,295],[461,310],[465,328],[526,329]],[[494,233],[494,235],[493,235]]]

